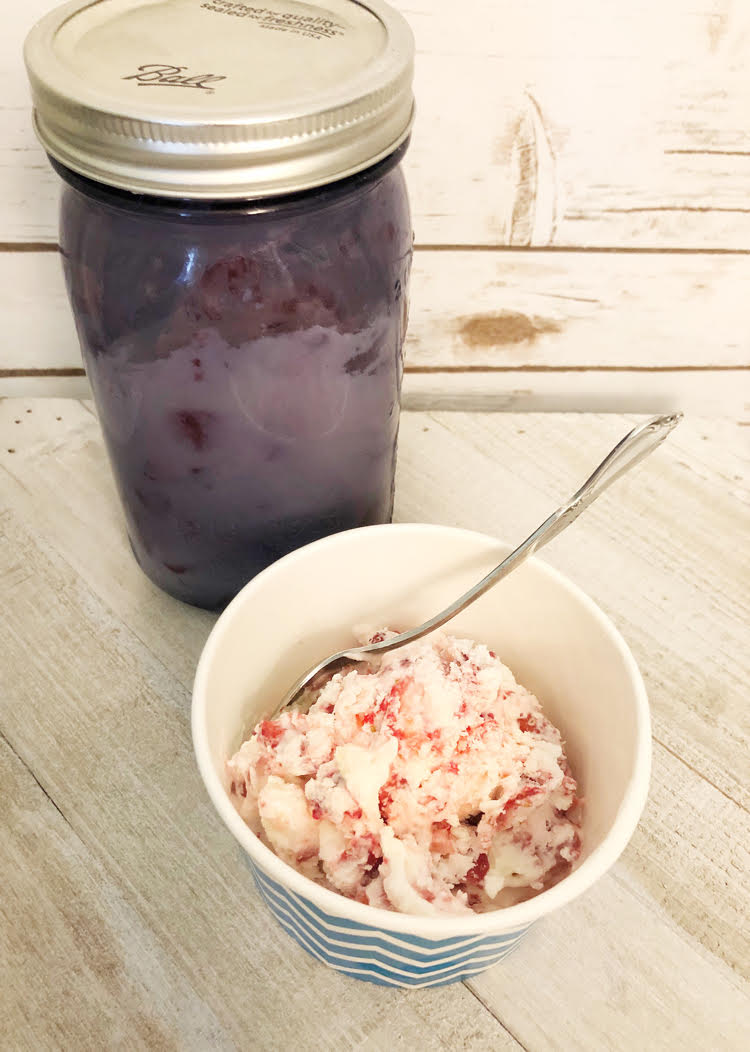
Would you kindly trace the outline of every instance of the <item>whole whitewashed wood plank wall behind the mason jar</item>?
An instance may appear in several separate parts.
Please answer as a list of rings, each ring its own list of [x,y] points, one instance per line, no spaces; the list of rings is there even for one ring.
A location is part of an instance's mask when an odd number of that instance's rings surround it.
[[[5,396],[88,393],[21,59],[54,5],[13,6],[0,40]],[[750,8],[396,5],[420,114],[404,404],[748,419]]]

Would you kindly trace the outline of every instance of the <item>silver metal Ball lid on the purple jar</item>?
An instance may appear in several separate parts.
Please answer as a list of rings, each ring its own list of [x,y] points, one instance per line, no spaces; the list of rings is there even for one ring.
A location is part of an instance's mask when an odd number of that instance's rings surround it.
[[[63,165],[135,193],[237,200],[397,149],[413,53],[383,0],[74,0],[24,56],[37,134]]]

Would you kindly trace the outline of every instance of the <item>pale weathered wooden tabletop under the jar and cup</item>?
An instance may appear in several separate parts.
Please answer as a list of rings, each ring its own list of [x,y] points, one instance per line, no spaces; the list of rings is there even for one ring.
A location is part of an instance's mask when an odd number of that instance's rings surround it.
[[[397,519],[521,538],[629,420],[406,412]],[[748,459],[736,420],[688,418],[546,550],[641,665],[649,802],[506,962],[402,992],[259,899],[192,757],[215,618],[136,566],[92,406],[0,402],[0,1048],[750,1047]]]

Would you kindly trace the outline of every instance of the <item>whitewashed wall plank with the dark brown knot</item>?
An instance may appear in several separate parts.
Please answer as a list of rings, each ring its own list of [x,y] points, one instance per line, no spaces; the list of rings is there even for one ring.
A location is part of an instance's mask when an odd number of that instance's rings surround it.
[[[417,251],[406,365],[748,367],[748,289],[750,255]],[[80,367],[56,254],[0,252],[0,370]]]

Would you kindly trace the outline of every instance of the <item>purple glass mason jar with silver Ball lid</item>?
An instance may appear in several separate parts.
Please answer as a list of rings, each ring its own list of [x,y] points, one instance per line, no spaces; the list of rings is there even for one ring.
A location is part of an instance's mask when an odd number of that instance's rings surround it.
[[[77,0],[28,38],[130,544],[185,602],[390,520],[412,56],[381,0]]]

